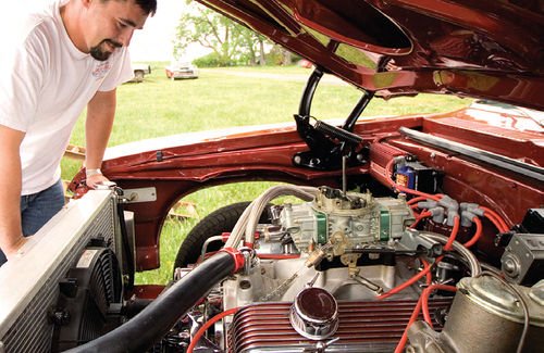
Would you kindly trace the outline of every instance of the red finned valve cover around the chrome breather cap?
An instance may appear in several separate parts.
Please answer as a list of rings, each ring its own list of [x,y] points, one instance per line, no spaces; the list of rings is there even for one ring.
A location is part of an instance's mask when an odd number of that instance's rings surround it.
[[[408,324],[417,301],[338,302],[339,325],[326,352],[392,352]],[[448,308],[450,299],[430,300],[435,308]],[[230,352],[302,352],[316,348],[289,323],[292,303],[263,303],[240,308],[230,329]],[[420,317],[422,319],[422,317]],[[437,325],[435,328],[440,329]]]

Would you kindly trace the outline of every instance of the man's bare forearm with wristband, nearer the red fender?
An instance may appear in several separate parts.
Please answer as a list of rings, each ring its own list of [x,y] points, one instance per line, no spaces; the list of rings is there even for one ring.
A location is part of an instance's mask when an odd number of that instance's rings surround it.
[[[98,169],[102,164],[115,116],[115,89],[96,92],[87,104],[87,119],[85,122],[85,167],[87,169]],[[92,187],[95,184],[106,180],[108,178],[103,175],[92,174],[87,177],[87,186]]]

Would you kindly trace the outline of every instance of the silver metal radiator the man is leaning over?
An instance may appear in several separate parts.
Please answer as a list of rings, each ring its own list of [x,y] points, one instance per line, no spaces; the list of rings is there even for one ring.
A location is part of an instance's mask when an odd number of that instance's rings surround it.
[[[53,325],[48,311],[59,297],[59,279],[78,261],[91,238],[103,238],[112,250],[120,242],[115,196],[89,191],[66,204],[0,267],[0,353],[49,352]]]

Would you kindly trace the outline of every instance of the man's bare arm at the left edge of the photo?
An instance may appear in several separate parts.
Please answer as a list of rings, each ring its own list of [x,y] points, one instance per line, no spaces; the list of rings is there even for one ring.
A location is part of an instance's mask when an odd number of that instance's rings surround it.
[[[10,259],[26,239],[21,229],[21,155],[25,133],[0,125],[0,248]]]

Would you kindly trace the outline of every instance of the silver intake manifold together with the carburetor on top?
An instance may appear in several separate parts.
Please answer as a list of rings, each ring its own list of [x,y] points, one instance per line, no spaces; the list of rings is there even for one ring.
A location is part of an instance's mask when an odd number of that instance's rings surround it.
[[[227,308],[293,301],[314,277],[337,299],[373,298],[395,282],[392,255],[441,248],[407,230],[416,218],[404,198],[320,188],[313,201],[273,206],[272,214],[271,225],[257,228],[258,263],[223,286]]]

